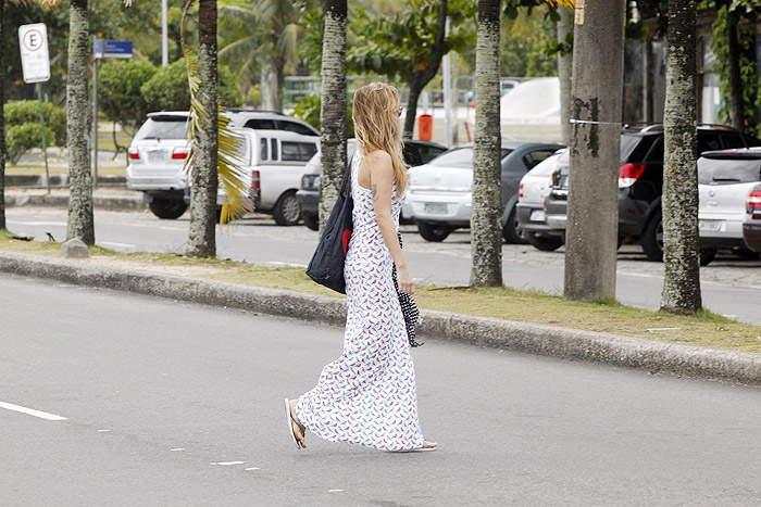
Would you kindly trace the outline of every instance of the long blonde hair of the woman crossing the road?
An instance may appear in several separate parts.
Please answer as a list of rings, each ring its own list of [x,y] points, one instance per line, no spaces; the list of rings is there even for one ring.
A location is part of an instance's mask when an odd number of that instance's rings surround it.
[[[397,192],[407,188],[407,164],[399,125],[399,91],[385,83],[371,83],[354,92],[352,117],[360,153],[383,150],[391,155]]]

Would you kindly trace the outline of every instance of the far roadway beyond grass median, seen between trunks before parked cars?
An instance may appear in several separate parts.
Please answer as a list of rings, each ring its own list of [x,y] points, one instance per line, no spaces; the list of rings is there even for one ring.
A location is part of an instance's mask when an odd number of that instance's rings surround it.
[[[63,210],[11,208],[9,228],[20,235],[47,240],[66,236]],[[160,220],[149,212],[96,211],[99,244],[124,252],[182,252],[188,231],[188,214],[177,220]],[[467,231],[457,231],[442,243],[424,241],[414,226],[402,227],[404,252],[412,276],[422,283],[466,286],[471,269]],[[284,266],[305,266],[317,243],[317,233],[305,227],[278,227],[266,216],[239,220],[217,235],[217,254],[235,261]],[[503,278],[508,287],[562,294],[562,251],[539,252],[529,245],[502,248]],[[622,303],[658,309],[663,265],[646,261],[638,245],[625,245],[619,255],[616,297]],[[701,270],[706,307],[721,315],[761,325],[761,262],[720,256]]]

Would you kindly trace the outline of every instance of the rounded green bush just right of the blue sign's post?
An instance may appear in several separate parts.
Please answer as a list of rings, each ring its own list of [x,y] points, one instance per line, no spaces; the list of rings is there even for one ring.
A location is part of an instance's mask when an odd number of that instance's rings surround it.
[[[98,109],[128,129],[137,129],[149,112],[140,87],[157,68],[146,60],[110,61],[98,71]]]

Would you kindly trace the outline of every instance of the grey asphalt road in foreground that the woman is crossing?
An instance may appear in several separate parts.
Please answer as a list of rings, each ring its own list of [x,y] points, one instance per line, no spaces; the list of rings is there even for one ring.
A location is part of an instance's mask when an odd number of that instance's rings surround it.
[[[0,307],[3,507],[761,505],[758,389],[428,340],[438,452],[297,451],[342,328],[8,275]]]

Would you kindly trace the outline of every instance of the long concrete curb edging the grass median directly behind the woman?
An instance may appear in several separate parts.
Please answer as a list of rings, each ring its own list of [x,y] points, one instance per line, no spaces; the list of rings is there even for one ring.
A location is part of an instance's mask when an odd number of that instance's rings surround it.
[[[65,261],[0,252],[0,271],[324,324],[344,325],[346,320],[346,302],[337,297],[163,276],[137,269],[105,269],[88,265],[87,259]],[[421,315],[419,331],[422,337],[761,386],[761,354],[670,344],[449,312],[424,309]]]

